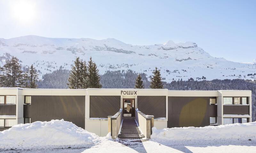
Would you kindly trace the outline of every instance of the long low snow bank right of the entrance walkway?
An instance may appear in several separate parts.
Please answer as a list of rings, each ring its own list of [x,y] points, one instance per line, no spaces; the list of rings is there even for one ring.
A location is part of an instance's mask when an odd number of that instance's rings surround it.
[[[236,123],[207,127],[152,128],[152,139],[165,140],[212,140],[212,139],[247,139],[256,137],[256,122]]]

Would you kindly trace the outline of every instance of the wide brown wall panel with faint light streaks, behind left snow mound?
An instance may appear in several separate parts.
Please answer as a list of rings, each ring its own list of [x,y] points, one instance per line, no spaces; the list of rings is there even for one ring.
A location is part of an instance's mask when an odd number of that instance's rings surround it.
[[[61,120],[84,128],[85,96],[31,96],[31,122]]]

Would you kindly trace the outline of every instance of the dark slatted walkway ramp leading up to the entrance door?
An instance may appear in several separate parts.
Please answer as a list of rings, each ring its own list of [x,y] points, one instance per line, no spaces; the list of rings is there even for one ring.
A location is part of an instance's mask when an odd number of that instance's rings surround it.
[[[140,132],[135,118],[123,118],[119,139],[142,139],[144,137],[145,135]]]

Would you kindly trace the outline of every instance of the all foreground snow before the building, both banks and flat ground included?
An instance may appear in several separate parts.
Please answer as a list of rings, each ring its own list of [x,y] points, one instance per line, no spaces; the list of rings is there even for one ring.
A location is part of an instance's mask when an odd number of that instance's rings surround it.
[[[52,120],[20,124],[0,132],[0,152],[251,153],[256,151],[255,129],[256,122],[204,128],[166,128],[153,129],[149,140],[112,140],[109,135],[98,137],[70,122]]]

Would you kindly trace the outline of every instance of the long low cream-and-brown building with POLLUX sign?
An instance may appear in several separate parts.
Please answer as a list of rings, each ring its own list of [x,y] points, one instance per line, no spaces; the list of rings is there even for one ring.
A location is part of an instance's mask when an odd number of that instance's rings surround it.
[[[116,138],[124,118],[133,118],[147,138],[152,127],[251,122],[252,92],[0,88],[1,131],[20,123],[64,119]]]

